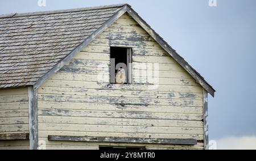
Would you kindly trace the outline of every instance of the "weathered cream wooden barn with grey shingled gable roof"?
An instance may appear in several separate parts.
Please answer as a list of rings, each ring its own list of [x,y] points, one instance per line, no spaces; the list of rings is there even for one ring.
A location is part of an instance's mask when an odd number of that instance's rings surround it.
[[[0,149],[207,149],[214,92],[127,4],[0,16]]]

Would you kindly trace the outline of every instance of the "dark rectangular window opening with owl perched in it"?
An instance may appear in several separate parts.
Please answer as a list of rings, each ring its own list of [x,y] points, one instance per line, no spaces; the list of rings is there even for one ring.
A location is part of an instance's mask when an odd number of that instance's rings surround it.
[[[131,83],[131,48],[110,47],[110,83]]]

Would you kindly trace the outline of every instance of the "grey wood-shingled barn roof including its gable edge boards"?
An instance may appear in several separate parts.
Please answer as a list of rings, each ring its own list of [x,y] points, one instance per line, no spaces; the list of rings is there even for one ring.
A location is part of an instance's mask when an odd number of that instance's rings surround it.
[[[5,15],[0,19],[0,88],[40,87],[125,12],[214,96],[213,87],[126,3]]]

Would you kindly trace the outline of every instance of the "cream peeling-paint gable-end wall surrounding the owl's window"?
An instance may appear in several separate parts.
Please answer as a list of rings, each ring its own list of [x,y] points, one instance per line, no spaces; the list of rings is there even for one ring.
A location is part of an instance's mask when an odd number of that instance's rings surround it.
[[[110,46],[133,48],[133,84],[109,84]],[[144,62],[159,63],[159,83],[141,79],[136,71]],[[204,148],[203,88],[126,14],[39,88],[38,108],[47,149],[117,145],[53,142],[48,135],[195,138],[195,146],[131,146]]]

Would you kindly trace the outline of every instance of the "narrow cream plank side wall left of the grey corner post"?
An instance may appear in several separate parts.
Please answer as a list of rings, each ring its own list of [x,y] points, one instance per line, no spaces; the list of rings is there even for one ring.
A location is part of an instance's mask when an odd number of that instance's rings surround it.
[[[0,90],[0,134],[28,133],[28,90]],[[29,141],[0,141],[0,149],[29,149]]]

